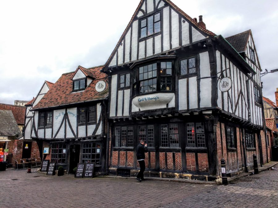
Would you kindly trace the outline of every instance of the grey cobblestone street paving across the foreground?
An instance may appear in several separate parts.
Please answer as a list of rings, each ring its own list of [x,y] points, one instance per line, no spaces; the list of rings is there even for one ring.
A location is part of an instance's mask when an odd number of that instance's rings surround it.
[[[228,186],[0,172],[0,207],[277,207],[278,165]]]

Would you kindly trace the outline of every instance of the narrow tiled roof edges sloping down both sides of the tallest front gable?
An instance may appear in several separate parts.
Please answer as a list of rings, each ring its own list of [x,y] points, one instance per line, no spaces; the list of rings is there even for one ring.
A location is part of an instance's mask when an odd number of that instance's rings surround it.
[[[136,15],[138,14],[142,4],[144,3],[145,0],[141,0],[139,5],[137,6],[134,14],[132,15],[130,21],[128,22],[127,27],[125,28],[123,34],[121,35],[118,43],[116,44],[116,47],[114,48],[114,50],[112,51],[111,55],[109,56],[107,62],[104,64],[104,67],[107,67],[108,63],[110,62],[110,60],[112,59],[113,55],[115,54],[118,46],[120,45],[120,43],[122,42],[124,35],[128,32],[128,29],[130,27],[130,25],[132,24],[134,18],[136,17]],[[197,27],[200,31],[203,31],[205,34],[210,35],[210,36],[216,36],[215,33],[213,33],[212,31],[209,31],[207,29],[205,29],[204,27],[201,27],[196,21],[193,20],[193,18],[191,18],[188,14],[186,14],[183,10],[181,10],[177,5],[175,5],[173,2],[171,2],[170,0],[162,0],[166,3],[168,3],[172,8],[174,8],[177,12],[179,12],[183,18],[187,19],[189,22],[191,22],[195,27]]]

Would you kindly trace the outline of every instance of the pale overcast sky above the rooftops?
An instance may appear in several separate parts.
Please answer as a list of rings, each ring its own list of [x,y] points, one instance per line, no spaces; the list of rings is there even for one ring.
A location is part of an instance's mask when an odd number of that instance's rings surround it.
[[[31,100],[78,65],[104,64],[140,0],[0,1],[0,103]],[[172,0],[208,30],[228,37],[251,29],[261,68],[278,68],[278,1]],[[278,72],[262,77],[275,101]]]

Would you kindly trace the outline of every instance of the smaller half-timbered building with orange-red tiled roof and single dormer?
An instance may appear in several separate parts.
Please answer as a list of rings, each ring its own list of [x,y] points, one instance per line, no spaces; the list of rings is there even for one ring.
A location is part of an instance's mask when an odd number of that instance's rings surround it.
[[[106,158],[107,75],[102,66],[78,68],[62,74],[51,88],[43,86],[40,99],[28,107],[25,132],[56,162],[72,173],[79,162],[94,162],[95,174],[104,174]],[[45,88],[45,90],[44,90]],[[25,134],[25,137],[27,134]]]

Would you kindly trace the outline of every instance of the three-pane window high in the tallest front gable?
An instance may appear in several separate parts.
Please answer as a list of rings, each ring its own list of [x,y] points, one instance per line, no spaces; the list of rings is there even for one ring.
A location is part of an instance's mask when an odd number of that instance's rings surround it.
[[[160,13],[141,20],[141,38],[160,32]]]

